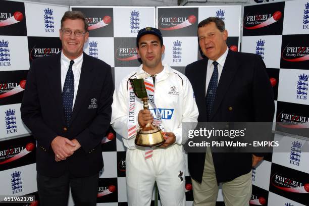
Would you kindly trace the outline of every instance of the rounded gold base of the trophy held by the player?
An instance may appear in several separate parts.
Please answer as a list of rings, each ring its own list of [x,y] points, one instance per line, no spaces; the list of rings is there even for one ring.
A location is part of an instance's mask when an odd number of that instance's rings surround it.
[[[135,137],[135,144],[141,147],[159,146],[165,142],[163,131],[158,126],[150,124],[151,130],[148,127],[141,128]]]

